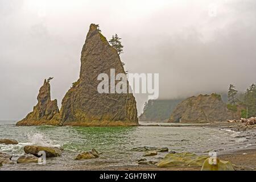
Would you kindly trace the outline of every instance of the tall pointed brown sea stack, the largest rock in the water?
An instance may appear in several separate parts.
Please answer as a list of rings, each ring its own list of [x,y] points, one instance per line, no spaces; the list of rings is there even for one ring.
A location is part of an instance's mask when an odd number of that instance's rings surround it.
[[[138,125],[133,94],[98,93],[97,87],[101,81],[97,77],[100,73],[106,73],[110,83],[110,69],[115,69],[115,75],[125,73],[117,51],[109,45],[95,24],[91,24],[82,48],[79,80],[62,101],[60,118],[63,125]]]

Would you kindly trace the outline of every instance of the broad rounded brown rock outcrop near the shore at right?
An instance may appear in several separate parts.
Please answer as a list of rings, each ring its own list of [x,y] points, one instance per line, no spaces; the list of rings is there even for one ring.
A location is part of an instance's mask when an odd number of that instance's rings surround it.
[[[240,114],[228,110],[218,94],[189,97],[181,102],[169,119],[170,122],[200,123],[238,119]]]

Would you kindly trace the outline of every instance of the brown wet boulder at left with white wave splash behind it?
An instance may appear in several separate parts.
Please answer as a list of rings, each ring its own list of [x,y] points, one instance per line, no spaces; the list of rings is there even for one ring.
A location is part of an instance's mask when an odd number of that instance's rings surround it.
[[[25,146],[24,147],[24,152],[26,154],[32,154],[37,157],[41,156],[41,155],[38,155],[40,151],[46,152],[47,158],[61,156],[61,149],[57,147],[42,147],[42,146]]]

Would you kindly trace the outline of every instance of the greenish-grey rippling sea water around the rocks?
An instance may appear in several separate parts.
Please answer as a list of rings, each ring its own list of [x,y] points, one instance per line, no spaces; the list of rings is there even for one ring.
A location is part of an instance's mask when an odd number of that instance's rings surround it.
[[[15,161],[24,154],[26,145],[55,146],[63,148],[58,158],[47,159],[47,163],[5,164],[0,170],[72,170],[108,168],[109,166],[137,165],[143,152],[132,151],[139,146],[168,147],[176,152],[208,154],[209,150],[226,152],[245,148],[255,142],[236,138],[239,133],[207,127],[56,127],[56,126],[15,126],[15,121],[0,121],[0,139],[18,140],[18,145],[0,144],[0,152],[13,155]],[[142,122],[143,125],[148,125]],[[168,123],[166,123],[168,125]],[[100,158],[73,160],[79,152],[96,148],[102,152]],[[159,160],[158,156],[148,159]]]

